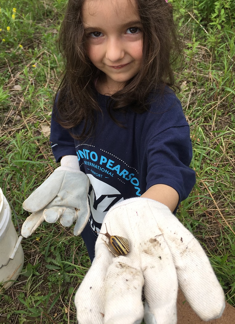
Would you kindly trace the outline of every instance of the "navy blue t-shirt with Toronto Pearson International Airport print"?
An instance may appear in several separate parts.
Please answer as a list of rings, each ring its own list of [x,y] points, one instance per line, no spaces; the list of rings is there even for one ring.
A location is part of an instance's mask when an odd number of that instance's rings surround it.
[[[131,109],[126,113],[113,112],[123,127],[110,118],[109,99],[97,93],[102,113],[97,114],[94,136],[85,142],[74,140],[54,120],[54,114],[51,121],[50,141],[56,161],[65,155],[77,155],[80,169],[91,183],[88,193],[91,215],[82,233],[91,259],[96,231],[112,205],[139,197],[155,184],[174,188],[180,203],[195,184],[195,172],[189,168],[192,158],[189,125],[173,91],[167,88],[165,95],[156,95],[144,113]],[[78,125],[72,132],[79,134],[82,128],[83,125]]]

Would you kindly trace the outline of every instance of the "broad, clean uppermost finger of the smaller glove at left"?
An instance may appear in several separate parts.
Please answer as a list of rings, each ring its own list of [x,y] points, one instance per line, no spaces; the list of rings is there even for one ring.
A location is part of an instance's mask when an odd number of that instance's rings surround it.
[[[64,180],[66,171],[54,171],[31,195],[23,202],[28,212],[44,209],[57,195]]]

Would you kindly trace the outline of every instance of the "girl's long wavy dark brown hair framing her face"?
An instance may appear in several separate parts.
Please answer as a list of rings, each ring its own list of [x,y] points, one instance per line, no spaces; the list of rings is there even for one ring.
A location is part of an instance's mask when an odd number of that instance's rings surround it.
[[[173,20],[172,5],[165,0],[136,1],[143,31],[142,66],[137,75],[110,96],[107,109],[112,118],[113,110],[122,110],[128,105],[135,112],[142,113],[148,109],[147,98],[152,91],[161,91],[166,85],[177,88],[173,69],[182,57],[182,46]],[[77,135],[79,139],[92,135],[95,116],[100,111],[95,89],[99,70],[86,52],[82,21],[84,2],[68,0],[59,34],[65,73],[56,98],[56,120],[61,126],[71,129],[84,121],[83,132]]]

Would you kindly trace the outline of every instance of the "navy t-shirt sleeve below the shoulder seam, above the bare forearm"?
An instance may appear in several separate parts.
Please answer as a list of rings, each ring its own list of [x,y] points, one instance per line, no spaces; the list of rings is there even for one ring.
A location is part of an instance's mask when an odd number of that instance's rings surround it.
[[[186,199],[195,184],[195,172],[189,167],[192,145],[189,126],[172,127],[154,137],[148,145],[147,189],[166,184]]]

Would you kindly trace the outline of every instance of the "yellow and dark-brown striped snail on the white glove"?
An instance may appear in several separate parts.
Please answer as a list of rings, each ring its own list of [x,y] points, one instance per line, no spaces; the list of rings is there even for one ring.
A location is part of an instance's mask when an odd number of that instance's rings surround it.
[[[105,235],[108,238],[108,244],[107,242],[105,242],[105,244],[107,245],[109,251],[115,257],[118,257],[120,255],[127,255],[130,252],[128,239],[118,235],[108,234],[106,223],[105,223],[105,227],[106,227],[106,233],[99,232],[99,234]]]

